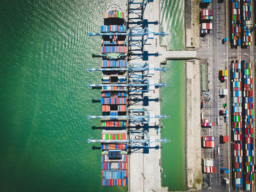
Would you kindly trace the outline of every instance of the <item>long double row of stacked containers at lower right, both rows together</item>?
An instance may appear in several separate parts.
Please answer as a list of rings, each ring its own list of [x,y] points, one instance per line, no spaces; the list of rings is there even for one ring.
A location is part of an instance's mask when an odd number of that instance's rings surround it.
[[[252,64],[249,60],[233,61],[230,72],[233,188],[248,191],[254,185]]]

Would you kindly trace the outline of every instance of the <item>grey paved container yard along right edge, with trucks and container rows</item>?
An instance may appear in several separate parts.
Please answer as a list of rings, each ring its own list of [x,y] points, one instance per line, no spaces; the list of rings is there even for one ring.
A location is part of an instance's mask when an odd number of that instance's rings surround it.
[[[213,172],[202,165],[203,190],[255,191],[255,1],[201,0],[198,8],[201,28],[209,26],[197,47],[202,163],[214,161]]]

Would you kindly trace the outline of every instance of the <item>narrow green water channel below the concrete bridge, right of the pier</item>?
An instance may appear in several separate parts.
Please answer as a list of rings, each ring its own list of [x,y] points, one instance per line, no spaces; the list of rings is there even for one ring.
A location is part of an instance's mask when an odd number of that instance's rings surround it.
[[[162,73],[162,82],[169,86],[161,91],[161,111],[170,118],[162,120],[162,137],[171,142],[162,145],[162,185],[176,191],[186,189],[184,61],[170,61],[167,66],[170,71]]]

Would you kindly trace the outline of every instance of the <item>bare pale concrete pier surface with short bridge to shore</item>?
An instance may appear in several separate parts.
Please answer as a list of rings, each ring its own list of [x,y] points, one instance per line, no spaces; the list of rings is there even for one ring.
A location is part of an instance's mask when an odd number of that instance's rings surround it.
[[[144,18],[150,22],[159,21],[159,5],[159,1],[148,3],[143,15]],[[154,32],[159,32],[159,24],[148,24],[148,28],[151,28]],[[154,39],[148,39],[146,42],[143,50],[149,53],[147,61],[134,56],[130,62],[147,62],[148,64],[154,64],[154,67],[160,67],[160,64],[166,62],[167,59],[196,58],[196,52],[194,50],[167,51],[166,47],[159,45],[159,42],[158,36],[154,36]],[[155,53],[158,53],[158,56],[154,55]],[[148,79],[159,83],[160,72],[154,72]],[[148,91],[148,93],[144,93],[145,96],[148,96],[149,100],[147,106],[143,106],[143,101],[140,101],[136,105],[132,104],[129,109],[144,108],[145,110],[154,112],[155,115],[160,115],[160,102],[156,101],[156,99],[160,98],[159,89]],[[154,119],[151,120],[148,126],[154,127],[155,125],[159,125],[159,123],[158,119]],[[149,128],[148,134],[151,138],[161,139],[161,128],[159,128],[159,134],[157,134],[154,128]],[[159,145],[160,147],[161,144],[157,142],[154,145]],[[162,188],[160,159],[160,149],[150,148],[148,153],[143,153],[143,150],[132,151],[129,157],[129,191],[167,191],[167,187]]]

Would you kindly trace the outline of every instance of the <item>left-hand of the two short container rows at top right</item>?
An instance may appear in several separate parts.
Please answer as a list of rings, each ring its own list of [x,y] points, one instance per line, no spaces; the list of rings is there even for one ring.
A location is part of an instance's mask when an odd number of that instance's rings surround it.
[[[233,46],[241,45],[241,10],[240,0],[231,0],[231,19],[230,33],[231,44]]]

